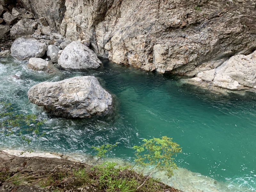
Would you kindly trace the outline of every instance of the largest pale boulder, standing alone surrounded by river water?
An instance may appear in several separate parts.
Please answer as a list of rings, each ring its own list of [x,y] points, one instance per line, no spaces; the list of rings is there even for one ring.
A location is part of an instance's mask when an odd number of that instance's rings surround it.
[[[94,76],[34,85],[28,90],[28,99],[55,116],[68,118],[105,115],[112,105],[111,95]]]

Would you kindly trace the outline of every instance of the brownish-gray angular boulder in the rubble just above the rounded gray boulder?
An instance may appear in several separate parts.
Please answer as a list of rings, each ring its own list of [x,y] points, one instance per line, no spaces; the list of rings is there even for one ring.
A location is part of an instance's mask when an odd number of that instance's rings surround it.
[[[19,20],[18,23],[16,23],[11,28],[11,38],[16,39],[22,36],[28,36],[35,33],[35,29],[32,27],[34,22],[35,21],[32,19]]]

